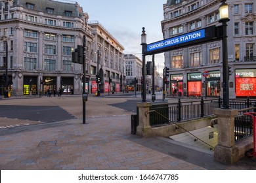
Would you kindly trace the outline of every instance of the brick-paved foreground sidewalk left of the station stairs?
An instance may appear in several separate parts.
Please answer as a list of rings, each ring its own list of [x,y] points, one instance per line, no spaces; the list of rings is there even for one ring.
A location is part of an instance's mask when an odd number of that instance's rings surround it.
[[[1,136],[0,169],[202,169],[131,141],[140,138],[129,134],[130,118],[34,125]]]

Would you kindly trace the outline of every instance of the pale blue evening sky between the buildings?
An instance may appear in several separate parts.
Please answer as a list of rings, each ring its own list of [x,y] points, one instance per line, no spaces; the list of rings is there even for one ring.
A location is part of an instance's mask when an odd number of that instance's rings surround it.
[[[167,0],[75,0],[83,12],[89,14],[89,22],[97,20],[125,48],[124,54],[141,57],[141,34],[145,27],[147,43],[163,40],[161,21],[163,4]],[[146,56],[152,61],[152,56]],[[163,73],[163,54],[155,56],[156,67]]]

